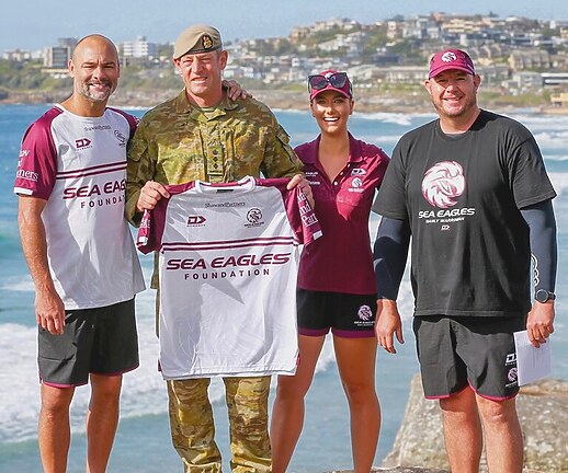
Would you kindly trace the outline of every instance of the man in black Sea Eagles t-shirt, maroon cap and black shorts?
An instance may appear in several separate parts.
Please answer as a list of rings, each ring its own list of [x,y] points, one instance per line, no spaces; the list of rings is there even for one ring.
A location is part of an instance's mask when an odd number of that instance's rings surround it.
[[[439,119],[399,140],[374,205],[375,332],[388,353],[395,335],[404,343],[396,299],[412,235],[422,384],[440,400],[451,469],[477,472],[485,435],[489,470],[513,473],[523,466],[513,332],[526,328],[536,347],[554,332],[556,193],[532,134],[478,107],[480,82],[463,50],[430,61]]]

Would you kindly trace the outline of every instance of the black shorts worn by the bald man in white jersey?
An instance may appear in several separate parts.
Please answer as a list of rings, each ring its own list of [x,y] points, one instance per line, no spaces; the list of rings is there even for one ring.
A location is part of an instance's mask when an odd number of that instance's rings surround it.
[[[45,384],[87,384],[89,373],[117,376],[138,367],[134,299],[65,311],[61,335],[39,327],[37,365]]]

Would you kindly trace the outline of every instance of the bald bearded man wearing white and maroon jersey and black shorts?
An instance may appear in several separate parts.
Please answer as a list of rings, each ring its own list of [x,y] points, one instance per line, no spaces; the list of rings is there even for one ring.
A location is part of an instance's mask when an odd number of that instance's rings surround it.
[[[138,366],[134,297],[144,290],[124,219],[126,143],[136,120],[107,108],[120,76],[114,44],[82,38],[73,92],[27,129],[14,192],[34,280],[44,472],[66,472],[69,405],[91,382],[87,471],[104,472],[118,423],[122,374]]]

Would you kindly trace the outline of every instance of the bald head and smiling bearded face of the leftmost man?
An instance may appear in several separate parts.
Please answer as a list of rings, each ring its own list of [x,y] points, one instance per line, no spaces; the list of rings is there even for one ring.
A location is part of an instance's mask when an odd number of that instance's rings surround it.
[[[78,99],[105,106],[121,76],[116,47],[103,36],[86,37],[73,50],[69,74]]]

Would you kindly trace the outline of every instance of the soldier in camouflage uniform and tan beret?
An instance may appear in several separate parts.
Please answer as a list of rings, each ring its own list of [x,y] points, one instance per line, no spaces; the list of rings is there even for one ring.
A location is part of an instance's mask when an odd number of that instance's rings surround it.
[[[195,25],[177,39],[173,62],[185,88],[174,99],[149,111],[129,143],[126,211],[139,221],[169,194],[163,184],[194,180],[213,183],[246,175],[294,176],[311,198],[302,163],[288,136],[272,112],[249,99],[232,102],[221,86],[227,64],[217,30]],[[152,287],[158,288],[155,266]],[[186,471],[220,472],[220,453],[214,440],[209,379],[168,381],[172,441]],[[224,378],[229,411],[234,472],[269,472],[268,435],[270,377]]]

